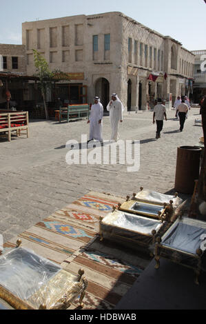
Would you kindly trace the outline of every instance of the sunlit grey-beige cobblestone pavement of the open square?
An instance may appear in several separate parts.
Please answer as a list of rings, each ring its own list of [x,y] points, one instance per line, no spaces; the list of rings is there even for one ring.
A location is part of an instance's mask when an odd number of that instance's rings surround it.
[[[156,140],[152,112],[125,114],[120,126],[121,139],[140,140],[140,169],[127,172],[127,165],[68,165],[65,143],[81,141],[89,133],[85,120],[68,123],[34,121],[30,138],[0,139],[0,234],[8,241],[45,216],[79,199],[90,190],[126,196],[143,186],[159,192],[174,188],[176,150],[196,145],[203,136],[198,108],[189,111],[183,132],[167,112],[161,139]],[[25,137],[25,136],[24,136]],[[110,138],[110,119],[104,117],[103,137]],[[104,148],[104,147],[103,147]],[[83,154],[83,150],[81,150]],[[87,152],[91,152],[88,149]]]

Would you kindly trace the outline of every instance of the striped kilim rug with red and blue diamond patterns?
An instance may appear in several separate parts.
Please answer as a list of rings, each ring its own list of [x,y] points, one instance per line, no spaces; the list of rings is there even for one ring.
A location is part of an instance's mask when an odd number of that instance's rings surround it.
[[[123,203],[119,196],[89,192],[70,205],[19,234],[23,247],[77,274],[85,270],[88,281],[85,309],[112,310],[150,262],[127,248],[99,241],[99,216]],[[5,243],[14,247],[17,237]],[[70,306],[76,308],[76,303]]]

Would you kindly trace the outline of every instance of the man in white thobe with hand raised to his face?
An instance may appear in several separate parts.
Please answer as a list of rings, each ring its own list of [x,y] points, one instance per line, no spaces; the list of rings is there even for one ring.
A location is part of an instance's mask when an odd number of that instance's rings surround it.
[[[110,123],[112,128],[112,134],[110,141],[117,141],[119,139],[119,122],[123,121],[123,103],[117,96],[112,94],[112,101],[107,105],[107,111],[110,112]]]

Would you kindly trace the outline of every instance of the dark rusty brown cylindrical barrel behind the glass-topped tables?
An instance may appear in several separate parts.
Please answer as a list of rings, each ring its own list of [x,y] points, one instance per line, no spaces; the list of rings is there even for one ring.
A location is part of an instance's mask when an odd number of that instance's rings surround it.
[[[180,146],[177,148],[176,175],[174,188],[183,194],[192,194],[194,181],[200,173],[201,148],[197,146]]]

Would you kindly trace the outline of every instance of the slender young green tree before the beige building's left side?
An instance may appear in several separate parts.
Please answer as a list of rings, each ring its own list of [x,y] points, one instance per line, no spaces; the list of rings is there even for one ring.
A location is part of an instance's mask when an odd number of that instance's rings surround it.
[[[43,97],[43,105],[45,110],[45,119],[48,120],[48,107],[46,105],[45,97],[46,92],[52,88],[52,83],[61,80],[68,80],[68,74],[61,72],[60,70],[50,71],[48,62],[45,58],[37,51],[33,50],[34,53],[34,66],[37,69],[37,77],[39,77],[39,88]]]

